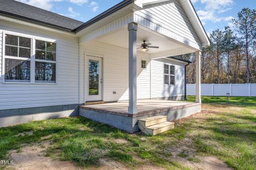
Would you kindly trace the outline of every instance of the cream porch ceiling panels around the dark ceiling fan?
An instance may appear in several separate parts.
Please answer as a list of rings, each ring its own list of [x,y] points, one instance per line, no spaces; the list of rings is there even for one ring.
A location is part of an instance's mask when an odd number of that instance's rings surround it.
[[[159,49],[151,48],[146,52],[150,54],[152,59],[195,52],[195,49],[188,48],[188,46],[184,46],[183,44],[178,44],[166,36],[162,36],[154,31],[149,31],[147,28],[145,29],[141,25],[138,25],[137,45],[141,45],[143,40],[146,40],[147,43],[150,42],[153,46],[159,46]],[[127,27],[122,27],[111,33],[98,36],[93,41],[101,42],[102,45],[109,44],[128,49],[129,34]],[[142,52],[141,49],[138,49],[138,52]]]

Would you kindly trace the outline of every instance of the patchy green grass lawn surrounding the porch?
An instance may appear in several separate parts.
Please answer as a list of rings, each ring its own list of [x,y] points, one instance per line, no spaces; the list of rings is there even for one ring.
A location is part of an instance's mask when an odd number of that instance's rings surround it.
[[[205,156],[216,156],[233,169],[256,169],[256,97],[231,97],[229,102],[226,97],[202,99],[201,113],[176,121],[175,129],[154,137],[129,134],[82,117],[0,128],[0,160],[10,159],[11,150],[20,152],[24,146],[51,141],[46,156],[82,167],[95,168],[107,158],[131,169],[147,163],[189,169],[179,160],[200,163]],[[188,96],[188,101],[194,100]],[[174,148],[183,146],[174,155]]]

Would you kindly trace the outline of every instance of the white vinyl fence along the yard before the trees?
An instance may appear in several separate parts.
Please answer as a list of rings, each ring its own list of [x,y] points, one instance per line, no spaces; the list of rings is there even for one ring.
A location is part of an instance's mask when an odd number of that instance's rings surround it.
[[[256,96],[256,84],[201,84],[202,96]],[[196,84],[187,84],[187,95],[196,95]]]

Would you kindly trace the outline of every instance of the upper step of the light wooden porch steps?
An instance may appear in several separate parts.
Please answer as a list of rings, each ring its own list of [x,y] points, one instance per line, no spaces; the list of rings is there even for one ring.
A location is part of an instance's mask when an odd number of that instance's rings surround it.
[[[148,126],[160,124],[167,121],[167,116],[153,116],[142,118],[138,121],[139,127],[147,128]]]

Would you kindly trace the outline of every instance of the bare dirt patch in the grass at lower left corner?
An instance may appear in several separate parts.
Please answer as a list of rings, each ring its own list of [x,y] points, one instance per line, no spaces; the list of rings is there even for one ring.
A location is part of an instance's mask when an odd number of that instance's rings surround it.
[[[10,159],[14,164],[9,165],[7,169],[34,170],[34,169],[80,169],[72,162],[52,160],[46,155],[46,148],[49,146],[48,141],[37,143],[36,145],[25,146],[21,151],[11,151]]]

